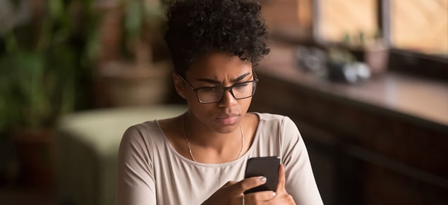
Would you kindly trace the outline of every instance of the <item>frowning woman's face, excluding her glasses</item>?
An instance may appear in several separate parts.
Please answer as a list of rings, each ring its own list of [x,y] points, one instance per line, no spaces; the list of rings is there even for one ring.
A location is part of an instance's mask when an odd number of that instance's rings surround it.
[[[252,66],[241,61],[238,56],[226,53],[212,53],[198,58],[186,71],[186,81],[198,87],[229,87],[237,83],[253,80]],[[248,111],[252,97],[235,99],[229,90],[222,98],[210,104],[201,104],[190,85],[183,83],[183,92],[188,102],[190,123],[202,123],[210,130],[222,134],[238,128],[241,119]],[[236,92],[236,89],[234,89]],[[191,124],[190,124],[191,125]]]

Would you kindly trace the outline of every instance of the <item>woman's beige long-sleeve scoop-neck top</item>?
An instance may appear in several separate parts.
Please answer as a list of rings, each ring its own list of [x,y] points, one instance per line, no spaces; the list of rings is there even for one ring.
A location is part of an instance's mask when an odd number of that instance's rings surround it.
[[[178,154],[157,120],[128,128],[119,149],[116,204],[201,204],[229,180],[243,180],[246,161],[255,156],[280,156],[286,191],[296,204],[323,204],[296,125],[285,116],[256,114],[260,123],[250,149],[235,161],[219,164]]]

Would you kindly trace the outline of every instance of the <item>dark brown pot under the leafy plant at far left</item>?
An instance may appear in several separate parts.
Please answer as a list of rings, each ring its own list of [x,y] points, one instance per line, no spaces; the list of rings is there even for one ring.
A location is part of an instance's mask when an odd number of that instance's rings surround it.
[[[32,187],[54,185],[54,135],[47,128],[14,132],[13,141],[19,166],[18,183]]]

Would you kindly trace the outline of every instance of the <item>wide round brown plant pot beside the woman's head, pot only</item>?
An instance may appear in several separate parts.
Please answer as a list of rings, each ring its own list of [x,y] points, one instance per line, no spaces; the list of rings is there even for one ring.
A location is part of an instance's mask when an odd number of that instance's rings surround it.
[[[110,106],[162,104],[168,97],[171,64],[107,63],[99,70],[104,97]]]

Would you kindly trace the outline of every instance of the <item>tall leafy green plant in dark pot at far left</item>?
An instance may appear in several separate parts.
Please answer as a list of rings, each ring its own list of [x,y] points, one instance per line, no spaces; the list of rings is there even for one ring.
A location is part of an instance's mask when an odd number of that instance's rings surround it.
[[[19,3],[28,18],[0,32],[0,133],[15,144],[20,182],[48,186],[54,123],[80,97],[97,20],[92,0],[29,2]]]

